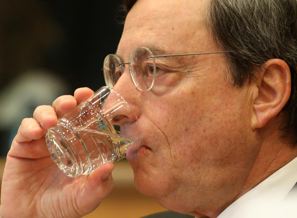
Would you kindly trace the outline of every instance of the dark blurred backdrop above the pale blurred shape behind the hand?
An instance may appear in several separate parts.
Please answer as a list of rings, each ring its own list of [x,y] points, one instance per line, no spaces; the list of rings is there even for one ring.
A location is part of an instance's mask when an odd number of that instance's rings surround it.
[[[72,89],[99,88],[103,60],[121,37],[120,3],[0,0],[0,89],[31,68],[61,75]]]

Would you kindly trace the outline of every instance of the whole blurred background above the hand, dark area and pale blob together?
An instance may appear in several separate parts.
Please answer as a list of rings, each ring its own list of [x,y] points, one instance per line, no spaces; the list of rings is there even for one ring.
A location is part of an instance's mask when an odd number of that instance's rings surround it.
[[[0,0],[0,155],[21,120],[79,87],[105,85],[102,64],[116,51],[121,0]]]

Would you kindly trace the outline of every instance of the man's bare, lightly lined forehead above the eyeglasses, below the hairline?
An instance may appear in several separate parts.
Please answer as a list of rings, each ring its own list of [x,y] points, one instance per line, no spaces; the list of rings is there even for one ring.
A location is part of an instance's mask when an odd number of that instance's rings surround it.
[[[217,50],[206,27],[206,8],[205,1],[138,0],[127,15],[118,54],[127,57],[137,46],[169,54]]]

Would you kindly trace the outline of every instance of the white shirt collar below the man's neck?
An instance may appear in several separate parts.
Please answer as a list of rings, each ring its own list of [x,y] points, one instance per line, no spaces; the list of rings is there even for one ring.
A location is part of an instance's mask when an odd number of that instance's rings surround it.
[[[278,212],[281,212],[282,216],[280,217],[286,217],[283,216],[283,210],[275,211],[275,208],[280,205],[296,182],[297,157],[243,194],[217,218],[270,218],[279,216]],[[296,210],[294,211],[295,216]]]

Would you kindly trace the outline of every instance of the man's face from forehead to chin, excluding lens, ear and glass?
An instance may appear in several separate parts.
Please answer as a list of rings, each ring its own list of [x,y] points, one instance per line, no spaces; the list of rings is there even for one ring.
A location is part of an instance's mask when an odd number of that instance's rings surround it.
[[[221,51],[206,27],[203,1],[138,0],[117,54],[129,61],[138,46],[168,54]],[[235,198],[258,152],[250,128],[248,87],[227,79],[223,54],[156,59],[167,69],[147,92],[128,67],[114,89],[139,116],[143,147],[128,153],[136,188],[164,207],[206,214]]]

